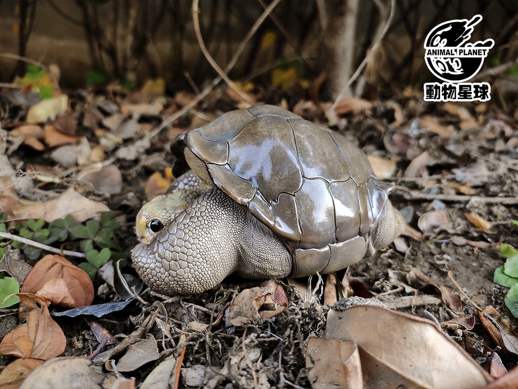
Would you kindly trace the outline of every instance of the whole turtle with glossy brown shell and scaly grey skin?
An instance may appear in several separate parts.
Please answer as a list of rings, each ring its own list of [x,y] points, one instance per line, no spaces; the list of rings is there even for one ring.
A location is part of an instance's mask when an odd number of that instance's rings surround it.
[[[363,151],[278,106],[227,112],[178,135],[171,150],[175,175],[184,173],[142,208],[143,241],[132,250],[139,275],[164,295],[201,293],[233,273],[338,271],[405,226],[388,198],[393,185]]]

